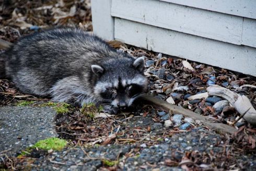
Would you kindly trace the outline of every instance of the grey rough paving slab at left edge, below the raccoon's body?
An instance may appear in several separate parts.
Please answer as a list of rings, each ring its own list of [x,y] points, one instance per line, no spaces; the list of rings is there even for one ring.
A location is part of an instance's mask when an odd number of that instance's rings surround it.
[[[1,107],[0,152],[15,155],[39,140],[56,137],[55,115],[50,107]]]

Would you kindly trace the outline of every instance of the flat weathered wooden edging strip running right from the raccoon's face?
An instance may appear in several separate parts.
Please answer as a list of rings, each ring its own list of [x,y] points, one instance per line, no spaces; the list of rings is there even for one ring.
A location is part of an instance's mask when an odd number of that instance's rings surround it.
[[[153,105],[154,107],[162,109],[166,112],[171,111],[173,114],[181,114],[185,117],[190,117],[194,120],[201,120],[204,126],[216,130],[217,133],[233,134],[236,132],[236,129],[234,127],[222,123],[212,123],[211,121],[207,120],[206,116],[196,114],[180,106],[169,104],[166,101],[157,99],[156,97],[145,94],[142,96],[142,99],[145,100],[147,103]]]

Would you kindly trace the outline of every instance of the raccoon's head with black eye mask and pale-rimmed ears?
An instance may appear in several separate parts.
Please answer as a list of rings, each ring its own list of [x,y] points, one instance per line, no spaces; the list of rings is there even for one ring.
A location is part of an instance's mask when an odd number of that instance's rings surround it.
[[[110,59],[100,65],[91,65],[98,76],[94,93],[112,107],[124,109],[147,89],[147,79],[143,75],[144,58]]]

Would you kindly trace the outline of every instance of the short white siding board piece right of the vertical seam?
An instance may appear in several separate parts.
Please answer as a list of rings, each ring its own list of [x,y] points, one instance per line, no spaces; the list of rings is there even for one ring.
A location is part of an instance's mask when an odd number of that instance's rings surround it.
[[[249,18],[243,20],[242,44],[256,47],[256,20]]]

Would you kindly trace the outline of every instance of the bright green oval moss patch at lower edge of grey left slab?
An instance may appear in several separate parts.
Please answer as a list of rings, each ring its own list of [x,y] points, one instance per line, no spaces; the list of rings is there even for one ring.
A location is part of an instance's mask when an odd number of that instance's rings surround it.
[[[66,144],[66,140],[59,138],[48,138],[38,141],[36,144],[33,145],[33,148],[38,148],[42,150],[61,150],[66,146]]]

